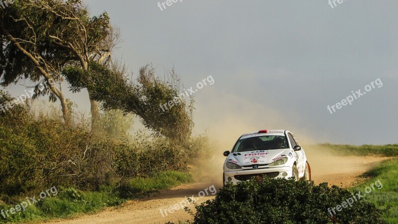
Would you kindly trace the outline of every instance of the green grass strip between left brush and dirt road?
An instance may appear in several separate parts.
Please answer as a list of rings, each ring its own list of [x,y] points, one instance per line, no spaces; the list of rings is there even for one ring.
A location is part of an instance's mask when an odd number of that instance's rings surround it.
[[[110,191],[110,187],[102,187],[100,191],[96,192],[60,188],[58,195],[48,197],[29,206],[24,212],[11,215],[7,219],[3,219],[0,215],[0,223],[36,222],[54,218],[71,218],[84,213],[95,213],[105,207],[118,206],[126,199],[136,198],[144,193],[164,190],[192,181],[192,176],[188,173],[166,171],[155,177],[132,178],[113,191]],[[33,197],[33,195],[38,194],[32,193],[30,197]],[[19,202],[0,204],[0,210],[8,210],[15,207]]]

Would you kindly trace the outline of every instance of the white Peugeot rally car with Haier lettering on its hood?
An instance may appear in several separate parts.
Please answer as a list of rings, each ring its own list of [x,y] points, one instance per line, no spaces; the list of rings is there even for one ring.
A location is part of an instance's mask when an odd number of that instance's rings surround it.
[[[223,183],[255,176],[311,180],[304,149],[288,130],[260,130],[243,134],[232,151],[225,151]]]

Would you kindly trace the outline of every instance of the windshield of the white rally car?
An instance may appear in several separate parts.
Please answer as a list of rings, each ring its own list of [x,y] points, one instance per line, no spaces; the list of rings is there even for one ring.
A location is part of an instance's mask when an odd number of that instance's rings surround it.
[[[239,139],[232,152],[289,148],[285,136],[265,135]]]

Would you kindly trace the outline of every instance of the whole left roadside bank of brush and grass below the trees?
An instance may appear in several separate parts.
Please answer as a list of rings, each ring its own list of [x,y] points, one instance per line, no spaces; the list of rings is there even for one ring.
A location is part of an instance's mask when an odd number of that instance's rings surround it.
[[[0,104],[12,100],[0,92]],[[0,210],[52,186],[59,190],[24,212],[0,216],[0,223],[73,217],[189,183],[188,164],[196,163],[190,158],[206,153],[205,136],[179,145],[162,136],[132,136],[126,124],[110,128],[129,120],[119,112],[104,112],[97,131],[89,119],[73,117],[66,125],[60,110],[37,114],[29,104],[0,111]]]

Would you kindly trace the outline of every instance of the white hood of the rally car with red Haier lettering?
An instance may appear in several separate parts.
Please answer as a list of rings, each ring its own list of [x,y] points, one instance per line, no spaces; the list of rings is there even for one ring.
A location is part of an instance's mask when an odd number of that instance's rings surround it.
[[[278,159],[286,157],[290,149],[256,150],[248,152],[233,152],[227,157],[227,162],[240,166],[252,164],[270,164]]]

